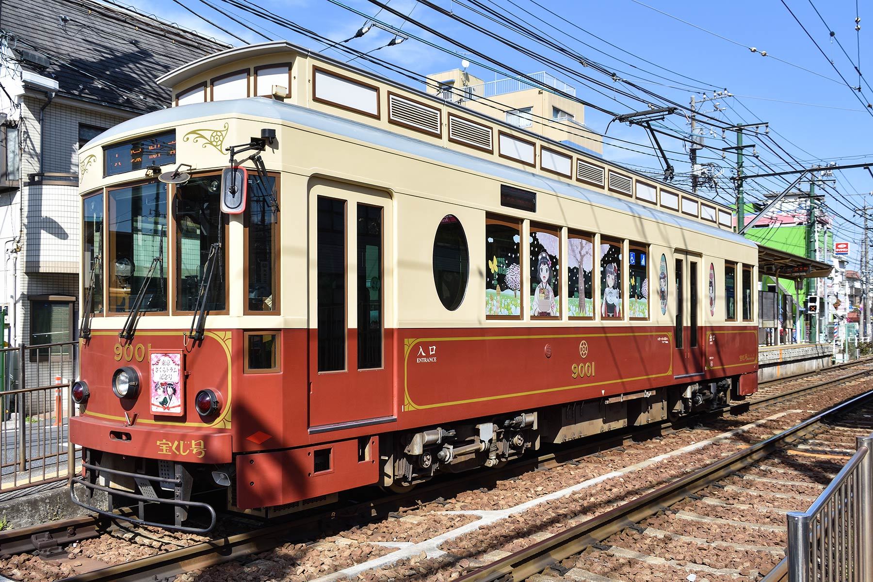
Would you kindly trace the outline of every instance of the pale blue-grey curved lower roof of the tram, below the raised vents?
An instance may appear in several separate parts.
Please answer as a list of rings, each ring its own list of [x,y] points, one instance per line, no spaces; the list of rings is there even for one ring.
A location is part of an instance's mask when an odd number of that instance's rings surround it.
[[[748,247],[755,246],[755,243],[752,241],[732,231],[718,229],[716,226],[709,226],[691,218],[672,214],[666,210],[648,205],[644,206],[622,197],[607,195],[580,184],[567,183],[546,175],[512,168],[497,161],[480,158],[453,148],[437,146],[424,140],[396,134],[381,127],[361,123],[360,121],[349,120],[330,113],[274,99],[228,99],[162,109],[161,111],[147,113],[132,120],[121,122],[119,125],[108,129],[89,141],[85,148],[91,147],[96,142],[111,141],[122,135],[142,133],[153,129],[155,126],[178,125],[187,120],[214,117],[216,115],[261,117],[286,121],[300,127],[312,127],[328,134],[367,142],[375,147],[382,147],[439,161],[446,165],[464,168],[482,175],[491,175],[501,180],[525,185],[529,188],[571,196],[603,207],[626,212],[632,216],[648,218],[658,223],[673,224],[681,229],[697,231],[722,240],[730,240],[732,243],[739,243]]]

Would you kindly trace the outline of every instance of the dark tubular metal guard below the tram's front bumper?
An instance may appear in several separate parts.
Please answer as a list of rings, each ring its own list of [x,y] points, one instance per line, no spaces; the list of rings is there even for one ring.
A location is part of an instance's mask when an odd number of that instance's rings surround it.
[[[144,475],[141,473],[131,473],[129,471],[122,471],[120,469],[107,469],[106,467],[100,467],[98,465],[93,465],[91,463],[85,462],[83,466],[86,469],[91,471],[100,472],[100,473],[109,473],[111,475],[116,476],[125,476],[136,479],[137,481],[146,480],[146,481],[155,481],[159,483],[169,483],[174,487],[174,493],[176,497],[181,496],[183,483],[182,478],[180,476],[176,476],[175,478],[170,477],[162,477],[162,476],[152,476],[152,475]],[[102,491],[107,493],[110,496],[110,507],[109,510],[101,510],[100,508],[93,507],[93,505],[89,505],[88,503],[84,503],[79,501],[79,498],[76,496],[75,486],[79,484],[84,486],[88,490],[88,495],[93,495],[93,491]],[[139,516],[142,517],[144,515],[143,508],[146,503],[162,503],[165,505],[172,506],[175,509],[176,523],[175,524],[161,524],[158,522],[150,522],[145,519],[141,519],[140,517],[134,517],[134,515],[119,515],[118,513],[113,513],[112,509],[112,496],[121,496],[126,497],[127,499],[133,499],[140,506]],[[70,499],[72,503],[79,505],[79,507],[83,507],[86,510],[94,511],[95,513],[99,513],[101,516],[112,517],[113,519],[120,519],[122,521],[129,522],[131,524],[137,525],[150,525],[152,527],[158,527],[165,530],[173,530],[173,531],[184,531],[186,533],[208,533],[212,530],[212,528],[216,525],[216,510],[209,504],[203,503],[199,501],[186,501],[183,499],[165,499],[163,497],[157,496],[145,496],[139,493],[134,493],[133,491],[116,489],[113,487],[107,487],[104,485],[98,485],[97,483],[91,483],[88,480],[73,476],[70,480]],[[206,510],[206,512],[210,516],[210,524],[207,527],[189,527],[182,525],[182,515],[187,516],[187,512],[192,508],[201,508]],[[180,511],[181,510],[181,511]],[[183,512],[183,513],[182,513]]]

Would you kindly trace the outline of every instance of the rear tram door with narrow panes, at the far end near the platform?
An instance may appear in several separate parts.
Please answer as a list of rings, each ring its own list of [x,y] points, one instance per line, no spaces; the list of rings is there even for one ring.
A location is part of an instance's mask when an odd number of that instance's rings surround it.
[[[674,306],[675,325],[673,345],[676,348],[677,362],[674,377],[689,378],[702,376],[704,370],[703,346],[700,340],[700,265],[701,257],[683,250],[673,253],[676,261],[676,305]]]

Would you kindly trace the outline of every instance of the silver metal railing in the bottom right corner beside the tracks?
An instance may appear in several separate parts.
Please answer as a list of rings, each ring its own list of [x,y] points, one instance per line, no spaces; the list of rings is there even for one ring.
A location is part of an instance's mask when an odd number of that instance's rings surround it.
[[[806,512],[788,513],[788,579],[873,580],[873,435]]]

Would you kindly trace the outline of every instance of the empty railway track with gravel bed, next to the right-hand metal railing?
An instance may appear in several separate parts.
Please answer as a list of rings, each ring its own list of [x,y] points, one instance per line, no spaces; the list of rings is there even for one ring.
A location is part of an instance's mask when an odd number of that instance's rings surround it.
[[[873,429],[873,391],[622,503],[458,582],[783,579],[789,510],[805,510]],[[745,503],[744,503],[745,502]],[[647,574],[648,575],[648,574]],[[678,577],[678,578],[677,578]]]

